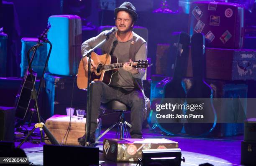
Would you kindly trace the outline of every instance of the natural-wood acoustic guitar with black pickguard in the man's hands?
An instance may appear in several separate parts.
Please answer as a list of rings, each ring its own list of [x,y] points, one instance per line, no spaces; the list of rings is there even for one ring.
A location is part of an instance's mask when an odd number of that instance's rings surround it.
[[[111,77],[118,71],[119,68],[123,68],[125,63],[118,63],[118,58],[110,56],[109,54],[97,55],[92,53],[92,60],[96,65],[96,70],[90,75],[90,83],[92,81],[100,80],[107,85],[110,84]],[[135,68],[147,68],[150,66],[147,60],[138,60],[135,62],[128,62],[130,66]],[[79,89],[87,88],[88,72],[84,69],[84,63],[81,60],[78,67],[77,73],[77,86]]]

